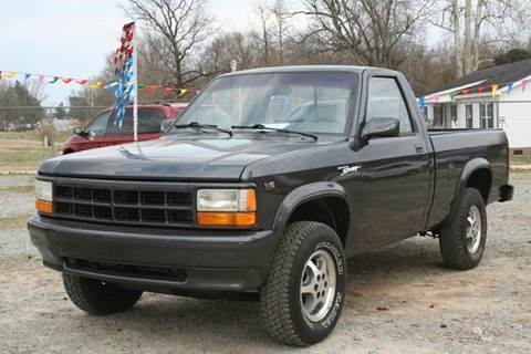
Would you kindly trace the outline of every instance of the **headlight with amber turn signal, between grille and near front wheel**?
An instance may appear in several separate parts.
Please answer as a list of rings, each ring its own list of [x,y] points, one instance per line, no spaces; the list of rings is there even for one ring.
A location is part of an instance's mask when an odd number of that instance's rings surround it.
[[[197,223],[201,226],[254,226],[254,189],[199,189],[197,211]]]

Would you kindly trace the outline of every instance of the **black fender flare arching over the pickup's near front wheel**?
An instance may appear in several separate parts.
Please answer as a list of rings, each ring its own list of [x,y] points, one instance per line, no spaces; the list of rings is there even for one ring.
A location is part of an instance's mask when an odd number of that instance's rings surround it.
[[[277,243],[275,250],[293,211],[306,201],[324,197],[339,197],[343,199],[348,207],[348,219],[351,219],[350,198],[343,186],[340,184],[332,181],[317,181],[298,187],[284,198],[274,217],[272,230]]]

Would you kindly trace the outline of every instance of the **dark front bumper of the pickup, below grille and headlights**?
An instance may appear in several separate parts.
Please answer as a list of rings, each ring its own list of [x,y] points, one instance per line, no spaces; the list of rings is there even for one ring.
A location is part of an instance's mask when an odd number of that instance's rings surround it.
[[[167,293],[254,291],[277,246],[272,231],[126,228],[41,216],[28,229],[46,267]]]

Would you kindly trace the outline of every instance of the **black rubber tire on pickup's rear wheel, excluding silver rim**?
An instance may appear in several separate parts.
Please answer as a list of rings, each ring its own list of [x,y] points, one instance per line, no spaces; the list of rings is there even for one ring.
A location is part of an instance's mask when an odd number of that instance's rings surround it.
[[[467,247],[469,211],[476,206],[481,216],[481,239],[475,252]],[[439,235],[440,253],[445,266],[456,270],[469,270],[479,264],[487,241],[487,210],[481,194],[473,188],[462,192],[452,216],[442,226]]]

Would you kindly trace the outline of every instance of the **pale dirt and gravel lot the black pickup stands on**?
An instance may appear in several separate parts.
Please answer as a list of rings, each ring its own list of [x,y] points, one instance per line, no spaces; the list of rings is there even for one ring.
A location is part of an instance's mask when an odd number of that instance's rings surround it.
[[[8,185],[0,217],[32,208],[28,192],[9,187],[23,178],[0,178]],[[352,259],[334,333],[302,350],[272,342],[253,302],[147,293],[129,312],[87,315],[66,299],[60,274],[40,264],[22,227],[0,230],[0,352],[531,353],[531,174],[511,179],[516,200],[489,207],[477,269],[444,269],[430,238]]]

